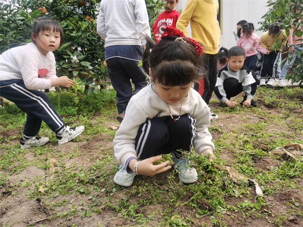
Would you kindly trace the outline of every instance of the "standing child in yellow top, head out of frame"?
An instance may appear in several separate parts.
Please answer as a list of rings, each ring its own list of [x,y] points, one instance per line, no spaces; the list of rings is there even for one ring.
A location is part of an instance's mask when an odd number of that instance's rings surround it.
[[[176,28],[188,37],[186,27],[190,22],[192,38],[203,44],[206,68],[209,69],[208,83],[205,84],[204,79],[200,79],[194,89],[199,92],[206,104],[209,104],[217,82],[218,46],[221,34],[217,20],[218,10],[217,0],[188,0],[176,24]],[[218,116],[211,109],[209,110],[211,121],[217,120]]]

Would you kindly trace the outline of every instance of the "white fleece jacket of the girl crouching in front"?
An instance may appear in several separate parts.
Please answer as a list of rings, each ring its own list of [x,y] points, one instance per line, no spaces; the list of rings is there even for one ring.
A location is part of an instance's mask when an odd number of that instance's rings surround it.
[[[154,90],[155,91],[154,91]],[[180,103],[170,104],[173,116],[179,116]],[[194,89],[182,100],[181,115],[188,113],[196,120],[193,147],[196,153],[210,148],[214,150],[212,136],[208,130],[210,125],[210,111],[208,105]],[[166,102],[159,96],[153,84],[141,89],[129,101],[125,118],[114,139],[115,156],[125,166],[130,157],[136,157],[135,138],[141,124],[152,118],[170,117]]]

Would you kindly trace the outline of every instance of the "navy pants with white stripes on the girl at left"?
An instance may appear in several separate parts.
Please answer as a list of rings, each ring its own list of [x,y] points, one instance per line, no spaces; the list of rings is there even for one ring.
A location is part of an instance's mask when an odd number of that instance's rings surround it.
[[[27,137],[38,135],[42,121],[54,132],[59,132],[64,127],[63,120],[48,97],[41,91],[27,89],[23,80],[0,81],[0,96],[14,102],[27,113],[23,131]]]

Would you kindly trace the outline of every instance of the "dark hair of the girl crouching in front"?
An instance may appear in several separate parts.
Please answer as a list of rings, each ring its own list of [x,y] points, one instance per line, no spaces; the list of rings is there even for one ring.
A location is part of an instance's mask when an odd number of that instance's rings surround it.
[[[165,86],[182,86],[198,82],[206,74],[204,55],[197,51],[187,38],[176,40],[177,36],[163,37],[159,43],[146,37],[146,49],[143,53],[142,65],[153,81]]]

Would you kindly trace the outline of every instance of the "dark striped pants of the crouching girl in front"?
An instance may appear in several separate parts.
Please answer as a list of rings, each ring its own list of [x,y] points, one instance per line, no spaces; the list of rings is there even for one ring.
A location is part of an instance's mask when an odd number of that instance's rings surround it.
[[[179,116],[173,116],[177,119]],[[195,137],[196,120],[188,114],[182,115],[179,120],[168,116],[147,120],[139,128],[135,147],[138,159],[146,159],[160,154],[174,152],[179,158],[183,150],[189,152]]]

